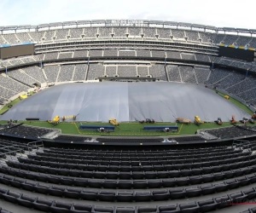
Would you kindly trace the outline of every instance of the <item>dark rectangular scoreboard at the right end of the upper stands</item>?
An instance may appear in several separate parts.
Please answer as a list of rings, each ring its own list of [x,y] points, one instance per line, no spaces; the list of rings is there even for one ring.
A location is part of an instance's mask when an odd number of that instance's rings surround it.
[[[218,55],[223,57],[233,58],[233,59],[239,59],[239,60],[247,60],[247,61],[256,60],[255,49],[245,48],[242,46],[221,44],[219,46]]]

